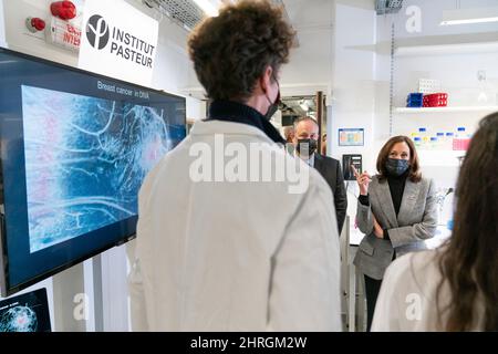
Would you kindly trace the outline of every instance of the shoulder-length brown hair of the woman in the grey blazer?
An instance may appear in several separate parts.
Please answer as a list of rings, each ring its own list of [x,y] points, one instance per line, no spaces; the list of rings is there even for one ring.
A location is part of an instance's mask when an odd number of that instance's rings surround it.
[[[421,163],[418,160],[418,154],[415,148],[415,144],[413,144],[412,139],[404,135],[393,136],[387,140],[387,143],[384,144],[381,152],[378,153],[377,157],[377,171],[378,171],[378,180],[381,183],[384,183],[386,180],[387,176],[387,169],[385,168],[385,163],[387,158],[390,157],[391,150],[393,149],[393,146],[397,143],[406,143],[409,148],[409,175],[408,178],[413,183],[419,183],[422,179],[422,173],[421,173]]]

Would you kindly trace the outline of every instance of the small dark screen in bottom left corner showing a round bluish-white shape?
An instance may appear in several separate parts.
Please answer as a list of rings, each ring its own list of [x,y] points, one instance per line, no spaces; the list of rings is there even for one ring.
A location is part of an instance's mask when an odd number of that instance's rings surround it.
[[[0,301],[0,332],[51,332],[46,289]]]

